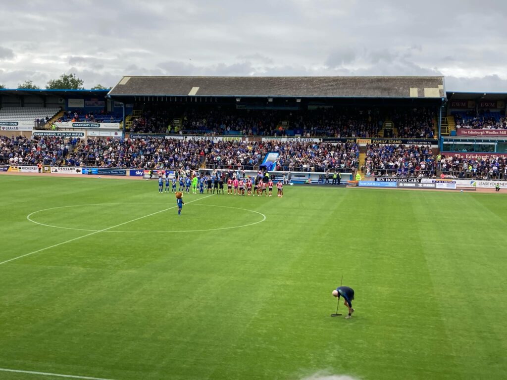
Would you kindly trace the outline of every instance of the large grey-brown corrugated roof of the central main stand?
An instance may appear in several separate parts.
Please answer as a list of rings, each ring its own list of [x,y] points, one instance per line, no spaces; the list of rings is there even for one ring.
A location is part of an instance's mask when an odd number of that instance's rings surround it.
[[[444,98],[443,77],[123,77],[109,96]]]

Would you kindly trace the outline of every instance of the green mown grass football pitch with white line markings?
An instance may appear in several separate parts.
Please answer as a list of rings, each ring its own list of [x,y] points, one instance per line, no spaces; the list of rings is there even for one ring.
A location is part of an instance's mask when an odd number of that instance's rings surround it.
[[[0,368],[507,378],[503,194],[285,186],[185,195],[178,216],[155,181],[0,176],[0,189],[0,262],[31,253],[0,264]],[[342,275],[351,320],[330,317]]]

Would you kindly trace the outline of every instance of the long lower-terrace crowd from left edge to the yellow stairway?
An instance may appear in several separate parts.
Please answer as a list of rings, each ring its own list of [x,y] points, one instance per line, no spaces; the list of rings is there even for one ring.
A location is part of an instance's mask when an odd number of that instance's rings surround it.
[[[276,170],[325,171],[355,168],[359,148],[352,143],[240,140],[1,137],[0,163],[106,168],[257,169],[277,152]]]

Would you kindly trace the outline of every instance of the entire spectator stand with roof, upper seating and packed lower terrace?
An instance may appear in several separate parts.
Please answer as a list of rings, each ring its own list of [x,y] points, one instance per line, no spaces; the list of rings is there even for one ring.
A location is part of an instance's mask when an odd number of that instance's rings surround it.
[[[0,161],[256,170],[271,152],[284,171],[502,178],[505,100],[446,92],[443,77],[129,76],[109,91],[4,89]]]

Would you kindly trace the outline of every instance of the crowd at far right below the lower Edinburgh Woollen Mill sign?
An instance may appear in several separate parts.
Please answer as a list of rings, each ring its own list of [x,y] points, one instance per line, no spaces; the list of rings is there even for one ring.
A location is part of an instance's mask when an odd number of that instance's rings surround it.
[[[439,167],[445,178],[507,180],[507,160],[501,157],[463,159],[442,156]]]

